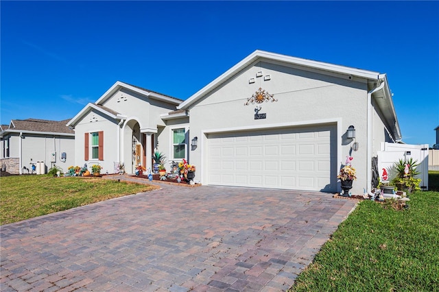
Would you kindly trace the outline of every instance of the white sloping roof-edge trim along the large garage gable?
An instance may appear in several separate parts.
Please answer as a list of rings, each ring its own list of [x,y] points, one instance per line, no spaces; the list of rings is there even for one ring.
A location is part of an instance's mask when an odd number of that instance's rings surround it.
[[[298,66],[305,66],[309,69],[318,69],[323,71],[342,73],[346,75],[353,75],[371,80],[377,80],[379,77],[379,73],[374,71],[366,71],[366,70],[355,69],[351,67],[340,66],[330,63],[317,62],[313,60],[306,60],[306,59],[295,58],[291,56],[280,55],[278,53],[270,53],[268,51],[256,50],[253,53],[251,53],[249,56],[244,58],[244,60],[241,60],[240,62],[235,64],[235,66],[228,69],[228,71],[224,72],[222,75],[219,75],[219,77],[217,77],[215,80],[204,86],[202,89],[198,90],[198,92],[192,95],[191,97],[189,97],[189,99],[183,101],[179,106],[177,106],[177,108],[178,109],[189,108],[189,106],[194,104],[195,101],[198,101],[198,99],[200,99],[203,95],[209,93],[209,91],[213,90],[220,84],[226,82],[226,80],[230,79],[230,77],[233,77],[233,75],[244,69],[246,66],[252,63],[259,62],[259,59],[284,62],[286,64],[295,64]]]

